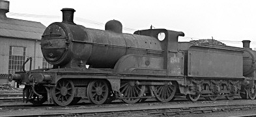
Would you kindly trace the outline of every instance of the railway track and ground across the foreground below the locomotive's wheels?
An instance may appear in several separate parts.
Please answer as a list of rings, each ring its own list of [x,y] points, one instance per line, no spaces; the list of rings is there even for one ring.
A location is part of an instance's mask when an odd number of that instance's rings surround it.
[[[1,106],[0,112],[12,112],[10,115],[2,113],[2,116],[180,116],[184,114],[200,114],[211,112],[244,111],[256,109],[256,101],[177,101],[169,103],[136,103],[124,104],[114,103],[106,105],[72,105],[72,106],[53,106],[43,105],[37,107],[33,105],[21,105],[12,108]],[[240,103],[238,103],[240,102]],[[39,111],[40,110],[40,111]],[[27,113],[22,113],[22,112]]]

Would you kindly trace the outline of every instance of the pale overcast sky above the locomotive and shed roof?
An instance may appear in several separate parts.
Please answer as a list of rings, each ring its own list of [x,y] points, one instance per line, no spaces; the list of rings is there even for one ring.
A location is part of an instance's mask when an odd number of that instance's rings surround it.
[[[166,28],[182,31],[179,41],[211,39],[242,47],[251,40],[256,48],[256,1],[253,0],[8,0],[7,17],[38,21],[48,27],[62,21],[62,8],[74,8],[74,23],[104,30],[112,19],[124,33]]]

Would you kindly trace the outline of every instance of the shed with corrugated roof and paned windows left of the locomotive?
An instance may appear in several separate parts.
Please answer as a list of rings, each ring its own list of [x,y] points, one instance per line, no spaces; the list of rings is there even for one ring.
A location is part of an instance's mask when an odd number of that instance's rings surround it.
[[[42,23],[8,18],[9,1],[0,0],[0,84],[8,83],[3,74],[22,69],[23,62],[33,58],[32,69],[49,67],[42,56],[40,39],[45,30]],[[29,64],[25,69],[29,69]]]

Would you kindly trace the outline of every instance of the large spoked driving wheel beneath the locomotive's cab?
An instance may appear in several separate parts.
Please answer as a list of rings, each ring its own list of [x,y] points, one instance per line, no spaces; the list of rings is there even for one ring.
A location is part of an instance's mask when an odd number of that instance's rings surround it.
[[[174,84],[155,85],[155,86],[152,86],[152,89],[154,90],[154,95],[156,96],[156,99],[158,101],[168,102],[168,101],[171,101],[171,99],[173,99],[177,86]]]

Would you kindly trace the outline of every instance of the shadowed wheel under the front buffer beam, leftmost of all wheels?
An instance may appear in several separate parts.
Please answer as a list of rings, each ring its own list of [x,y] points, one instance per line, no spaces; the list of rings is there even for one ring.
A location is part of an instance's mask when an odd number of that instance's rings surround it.
[[[47,91],[45,87],[41,86],[35,86],[35,90],[38,94],[42,96],[37,96],[33,90],[32,87],[29,85],[25,86],[25,96],[27,97],[28,101],[33,103],[34,105],[41,105],[45,101],[47,101]]]

